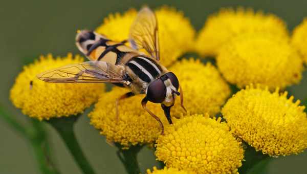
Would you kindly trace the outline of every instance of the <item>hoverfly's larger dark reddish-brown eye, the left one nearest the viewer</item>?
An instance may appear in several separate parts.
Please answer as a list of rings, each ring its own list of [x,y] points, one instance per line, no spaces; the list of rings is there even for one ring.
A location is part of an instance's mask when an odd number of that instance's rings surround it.
[[[151,82],[147,88],[146,98],[153,103],[162,103],[166,97],[166,87],[161,79]]]

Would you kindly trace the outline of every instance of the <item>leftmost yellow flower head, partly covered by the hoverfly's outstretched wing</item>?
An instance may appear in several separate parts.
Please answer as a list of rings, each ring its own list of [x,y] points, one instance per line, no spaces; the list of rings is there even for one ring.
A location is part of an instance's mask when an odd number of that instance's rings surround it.
[[[41,56],[18,75],[10,99],[25,115],[39,120],[82,113],[104,91],[103,84],[48,83],[36,78],[43,71],[82,61],[83,58],[72,54],[56,59],[51,54]]]

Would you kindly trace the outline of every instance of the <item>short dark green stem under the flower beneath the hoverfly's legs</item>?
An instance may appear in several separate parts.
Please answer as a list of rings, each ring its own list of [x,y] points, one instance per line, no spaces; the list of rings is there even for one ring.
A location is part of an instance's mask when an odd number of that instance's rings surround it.
[[[117,156],[123,163],[128,174],[139,174],[141,173],[139,163],[138,163],[138,153],[143,148],[143,146],[136,145],[130,146],[129,149],[122,149],[122,146],[116,144],[118,147]]]

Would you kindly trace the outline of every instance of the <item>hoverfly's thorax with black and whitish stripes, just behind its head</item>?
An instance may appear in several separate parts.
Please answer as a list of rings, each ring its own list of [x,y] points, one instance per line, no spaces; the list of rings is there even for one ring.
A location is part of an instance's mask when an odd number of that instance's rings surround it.
[[[145,83],[150,83],[165,72],[165,68],[157,61],[145,56],[131,58],[127,61],[126,67],[129,69],[129,76]]]

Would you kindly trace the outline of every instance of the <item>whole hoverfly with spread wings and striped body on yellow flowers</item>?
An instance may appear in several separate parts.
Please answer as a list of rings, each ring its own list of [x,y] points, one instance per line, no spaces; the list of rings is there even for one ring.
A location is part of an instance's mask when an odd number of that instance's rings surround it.
[[[127,41],[131,47],[125,45]],[[120,100],[136,94],[145,94],[141,102],[142,107],[160,123],[161,134],[164,131],[163,124],[159,117],[148,110],[146,103],[161,103],[170,124],[170,108],[174,105],[176,95],[180,96],[181,106],[184,108],[183,92],[178,78],[159,62],[157,19],[148,7],[139,11],[130,28],[128,40],[115,42],[96,32],[82,30],[77,33],[76,45],[90,61],[50,70],[38,74],[37,78],[56,83],[111,82],[127,87],[131,92],[116,100],[117,117]],[[140,50],[145,50],[148,54]]]

